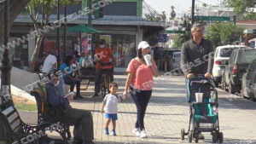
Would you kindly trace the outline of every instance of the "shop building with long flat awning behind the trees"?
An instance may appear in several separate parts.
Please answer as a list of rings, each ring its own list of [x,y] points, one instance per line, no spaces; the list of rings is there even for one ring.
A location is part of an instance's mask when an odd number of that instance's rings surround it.
[[[67,6],[67,16],[79,14],[79,10],[87,8],[87,3],[79,0],[79,4]],[[35,10],[36,11],[36,10]],[[64,7],[60,9],[60,18],[64,18]],[[105,38],[108,46],[113,50],[114,66],[126,67],[129,61],[137,55],[137,44],[155,32],[164,29],[161,21],[150,21],[143,19],[143,0],[115,0],[103,8],[103,18],[94,19],[92,13],[92,28],[101,31],[100,34],[86,35],[83,33],[83,51],[93,53],[100,38]],[[38,23],[42,15],[38,16]],[[56,10],[49,17],[49,24],[57,20]],[[88,16],[81,15],[75,20],[67,21],[67,29],[78,24],[87,25]],[[61,25],[60,31],[64,30]],[[9,42],[17,38],[27,36],[34,32],[32,20],[29,15],[18,15],[9,32]],[[39,58],[45,58],[49,54],[49,49],[56,48],[56,29],[49,29],[44,33],[41,44]],[[64,34],[61,32],[61,52],[63,51]],[[67,55],[73,55],[74,50],[79,49],[79,33],[67,33]],[[89,41],[91,44],[89,44]],[[11,49],[10,55],[14,55],[15,60],[23,60],[24,66],[29,65],[29,60],[34,53],[36,39],[20,43],[15,49]],[[26,69],[26,68],[25,68]]]

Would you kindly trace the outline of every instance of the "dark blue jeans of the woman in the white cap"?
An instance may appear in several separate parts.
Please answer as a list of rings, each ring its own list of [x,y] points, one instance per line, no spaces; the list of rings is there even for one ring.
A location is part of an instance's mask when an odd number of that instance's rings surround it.
[[[130,88],[133,90],[132,88]],[[152,90],[134,90],[132,98],[135,101],[137,107],[137,121],[135,124],[135,128],[139,128],[140,130],[145,129],[144,127],[144,117],[146,113],[146,109],[148,107],[148,101],[152,95]]]

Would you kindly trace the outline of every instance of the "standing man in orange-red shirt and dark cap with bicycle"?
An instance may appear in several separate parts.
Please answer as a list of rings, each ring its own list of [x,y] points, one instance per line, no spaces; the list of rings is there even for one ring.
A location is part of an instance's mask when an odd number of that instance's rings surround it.
[[[106,46],[105,39],[100,40],[100,47],[96,48],[95,53],[95,59],[96,59],[96,77],[95,77],[95,94],[91,95],[90,97],[96,97],[99,96],[98,93],[100,93],[100,84],[101,84],[101,78],[102,73],[108,73],[111,77],[111,81],[113,82],[113,54],[112,50]],[[102,95],[103,97],[105,95]]]

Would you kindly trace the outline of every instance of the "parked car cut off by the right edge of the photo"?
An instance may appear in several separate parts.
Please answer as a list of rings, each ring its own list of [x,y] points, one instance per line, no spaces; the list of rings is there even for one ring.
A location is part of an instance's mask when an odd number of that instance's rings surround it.
[[[256,59],[252,60],[241,78],[241,95],[256,101]]]

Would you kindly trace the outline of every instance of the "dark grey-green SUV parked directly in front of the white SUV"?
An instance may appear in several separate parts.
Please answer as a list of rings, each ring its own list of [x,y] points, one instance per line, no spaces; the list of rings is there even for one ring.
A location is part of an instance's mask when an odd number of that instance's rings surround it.
[[[230,55],[228,66],[222,73],[222,89],[229,89],[230,93],[239,92],[241,89],[241,78],[247,66],[256,57],[256,49],[241,48],[233,50]]]

